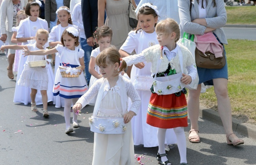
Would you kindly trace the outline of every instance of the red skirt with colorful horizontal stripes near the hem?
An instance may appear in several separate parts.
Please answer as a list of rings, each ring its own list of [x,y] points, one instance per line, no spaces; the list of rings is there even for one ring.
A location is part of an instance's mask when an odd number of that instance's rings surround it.
[[[187,100],[180,96],[152,93],[147,113],[147,124],[158,128],[187,127]]]

